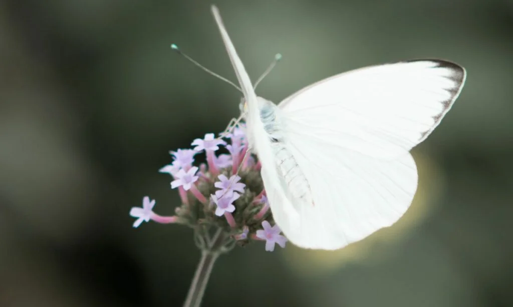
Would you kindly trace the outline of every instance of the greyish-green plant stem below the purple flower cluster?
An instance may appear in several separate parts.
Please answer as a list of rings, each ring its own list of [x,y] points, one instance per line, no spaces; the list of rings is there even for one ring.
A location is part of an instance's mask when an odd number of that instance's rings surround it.
[[[222,230],[218,229],[212,238],[206,233],[204,240],[206,244],[201,251],[200,263],[196,268],[194,278],[192,278],[184,307],[200,307],[215,260],[222,253],[225,236]]]

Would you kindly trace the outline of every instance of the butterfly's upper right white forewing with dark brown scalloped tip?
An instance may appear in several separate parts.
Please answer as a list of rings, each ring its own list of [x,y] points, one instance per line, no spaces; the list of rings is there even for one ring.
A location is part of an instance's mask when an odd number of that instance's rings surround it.
[[[422,142],[461,92],[465,70],[441,60],[385,64],[314,83],[280,103],[288,130],[373,157]]]

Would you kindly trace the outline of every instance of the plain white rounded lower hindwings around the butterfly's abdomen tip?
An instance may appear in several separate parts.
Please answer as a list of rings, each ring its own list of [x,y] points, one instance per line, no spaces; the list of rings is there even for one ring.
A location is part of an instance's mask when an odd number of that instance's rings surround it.
[[[291,243],[339,249],[392,225],[408,209],[417,189],[409,154],[380,160],[359,152],[292,140],[288,150],[305,174],[314,204],[287,193],[283,178],[262,168],[274,221]]]

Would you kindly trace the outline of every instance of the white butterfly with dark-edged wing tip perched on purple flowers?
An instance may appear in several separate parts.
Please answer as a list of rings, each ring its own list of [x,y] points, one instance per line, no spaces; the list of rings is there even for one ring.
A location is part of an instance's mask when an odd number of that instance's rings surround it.
[[[212,13],[241,85],[267,199],[295,245],[338,249],[395,223],[417,189],[409,150],[440,123],[465,70],[442,60],[384,64],[309,85],[280,104],[258,97]]]

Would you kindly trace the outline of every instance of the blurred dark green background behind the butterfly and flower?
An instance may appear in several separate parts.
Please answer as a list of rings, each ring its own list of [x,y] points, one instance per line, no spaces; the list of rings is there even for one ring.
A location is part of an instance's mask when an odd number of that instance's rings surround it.
[[[263,244],[214,267],[204,306],[513,306],[513,1],[216,3],[258,94],[278,102],[365,65],[468,72],[413,150],[420,187],[393,227],[337,252]],[[0,306],[181,306],[192,232],[128,215],[179,202],[168,150],[224,129],[240,95],[205,1],[0,2]]]

